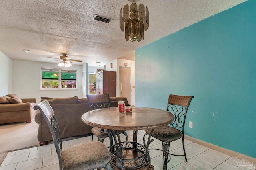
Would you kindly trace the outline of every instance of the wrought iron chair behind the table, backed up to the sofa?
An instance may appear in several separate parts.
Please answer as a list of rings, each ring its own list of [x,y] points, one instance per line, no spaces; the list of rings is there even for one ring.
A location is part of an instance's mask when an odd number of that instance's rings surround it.
[[[87,94],[86,95],[90,110],[104,109],[110,107],[109,94]],[[128,141],[128,135],[125,131],[119,131],[118,133],[123,133]],[[92,140],[93,135],[98,137],[98,141],[104,142],[104,139],[108,137],[108,129],[100,129],[98,127],[92,127]]]

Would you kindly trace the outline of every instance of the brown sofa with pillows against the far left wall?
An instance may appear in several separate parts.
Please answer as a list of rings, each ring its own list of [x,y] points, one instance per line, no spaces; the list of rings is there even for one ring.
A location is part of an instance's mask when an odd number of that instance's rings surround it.
[[[26,122],[31,123],[36,111],[36,99],[22,99],[16,94],[0,97],[0,124]]]

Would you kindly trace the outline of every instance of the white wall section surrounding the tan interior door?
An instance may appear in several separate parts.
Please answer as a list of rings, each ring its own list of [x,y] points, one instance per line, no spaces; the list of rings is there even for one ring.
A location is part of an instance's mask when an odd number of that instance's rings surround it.
[[[110,68],[110,63],[113,64],[113,68]],[[127,66],[124,66],[127,63]],[[135,61],[124,60],[124,59],[114,59],[109,63],[106,63],[106,70],[116,71],[116,96],[120,96],[120,67],[130,67],[131,68],[131,103],[130,105],[135,106]]]

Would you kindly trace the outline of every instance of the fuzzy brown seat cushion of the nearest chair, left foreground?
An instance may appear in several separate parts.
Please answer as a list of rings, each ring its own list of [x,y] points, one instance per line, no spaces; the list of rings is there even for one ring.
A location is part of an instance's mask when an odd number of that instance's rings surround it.
[[[90,141],[65,149],[61,160],[63,170],[90,170],[106,165],[110,152],[102,142]]]

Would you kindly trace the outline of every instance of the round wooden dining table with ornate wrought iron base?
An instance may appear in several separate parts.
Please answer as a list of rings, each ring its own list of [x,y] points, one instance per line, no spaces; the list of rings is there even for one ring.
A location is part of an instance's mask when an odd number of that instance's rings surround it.
[[[149,144],[155,128],[172,123],[170,112],[150,107],[132,107],[132,112],[119,113],[118,107],[96,109],[84,113],[82,121],[92,127],[109,129],[111,163],[114,170],[154,170],[150,164]],[[137,142],[137,131],[152,129],[147,142]],[[118,131],[133,131],[133,141],[122,142]],[[116,139],[116,136],[118,140]]]

